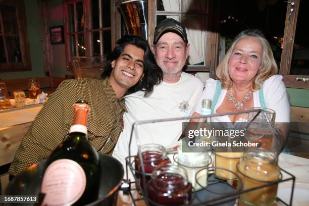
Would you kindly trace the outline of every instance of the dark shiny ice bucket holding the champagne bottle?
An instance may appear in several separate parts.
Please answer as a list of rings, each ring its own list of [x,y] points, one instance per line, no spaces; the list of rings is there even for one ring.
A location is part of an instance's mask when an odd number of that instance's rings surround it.
[[[124,175],[123,167],[118,160],[110,156],[99,154],[99,159],[101,178],[98,180],[100,181],[98,198],[96,201],[91,202],[88,205],[116,205],[118,190],[122,184]],[[39,195],[45,162],[45,160],[38,162],[18,174],[9,183],[5,190],[5,194]],[[14,205],[16,205],[16,203],[14,203]],[[21,203],[20,205],[25,205],[25,203]]]

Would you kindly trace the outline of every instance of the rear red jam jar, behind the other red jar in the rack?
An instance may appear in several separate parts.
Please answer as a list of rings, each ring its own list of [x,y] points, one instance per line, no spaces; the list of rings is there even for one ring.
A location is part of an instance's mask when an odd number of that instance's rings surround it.
[[[171,163],[169,158],[167,157],[167,152],[164,146],[160,144],[144,144],[139,147],[141,151],[141,156],[143,159],[143,165],[145,168],[145,177],[146,177],[146,184],[150,180],[151,173],[157,167]],[[141,161],[139,159],[138,153],[137,156],[134,157],[134,164],[135,164],[135,175],[137,178],[137,183],[140,184],[141,188],[143,189],[143,182],[142,182],[142,168],[141,168]]]

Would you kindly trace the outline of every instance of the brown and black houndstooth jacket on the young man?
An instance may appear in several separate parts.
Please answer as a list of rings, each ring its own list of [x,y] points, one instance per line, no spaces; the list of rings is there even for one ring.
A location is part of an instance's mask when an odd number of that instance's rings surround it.
[[[124,99],[116,98],[108,78],[66,80],[49,96],[25,134],[11,164],[11,175],[49,157],[67,137],[74,117],[72,105],[82,99],[90,107],[88,141],[98,152],[112,155],[123,129]]]

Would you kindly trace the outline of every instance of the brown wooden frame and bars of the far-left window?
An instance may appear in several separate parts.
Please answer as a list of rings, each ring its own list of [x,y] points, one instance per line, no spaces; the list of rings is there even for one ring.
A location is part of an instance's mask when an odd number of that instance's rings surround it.
[[[8,62],[7,43],[6,43],[6,39],[3,38],[7,62],[6,63],[0,63],[0,72],[31,71],[32,67],[31,67],[30,47],[29,47],[29,40],[28,40],[27,21],[26,21],[26,12],[25,12],[24,0],[21,0],[21,1],[19,1],[19,0],[2,1],[0,4],[4,5],[4,6],[10,6],[10,7],[16,8],[19,48],[20,48],[21,58],[22,58],[22,62],[20,62],[20,63]],[[0,15],[0,21],[2,22],[2,14]],[[1,37],[3,37],[3,36],[5,36],[5,34],[4,34],[4,25],[2,23]],[[16,35],[13,35],[13,36],[16,36]]]

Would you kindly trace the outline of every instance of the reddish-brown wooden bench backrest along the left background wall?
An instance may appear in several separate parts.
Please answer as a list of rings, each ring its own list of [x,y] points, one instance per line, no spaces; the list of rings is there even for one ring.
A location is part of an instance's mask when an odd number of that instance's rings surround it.
[[[45,93],[52,93],[58,87],[58,85],[65,80],[62,77],[35,77],[39,84],[40,89],[43,90]],[[28,90],[28,80],[29,78],[24,79],[5,79],[1,80],[5,82],[7,85],[7,89],[9,92],[10,97],[13,97],[13,91],[16,90]]]

